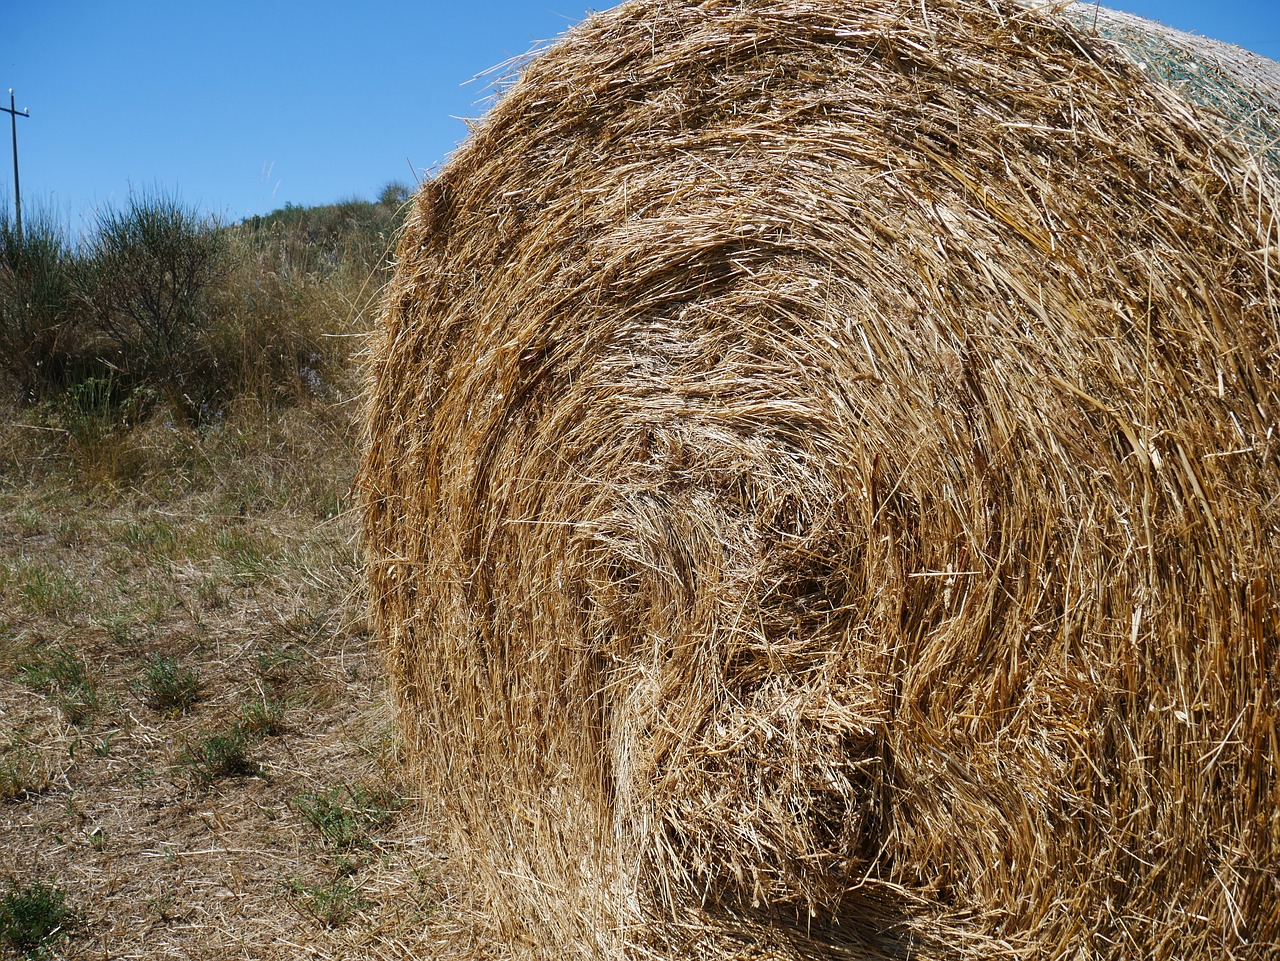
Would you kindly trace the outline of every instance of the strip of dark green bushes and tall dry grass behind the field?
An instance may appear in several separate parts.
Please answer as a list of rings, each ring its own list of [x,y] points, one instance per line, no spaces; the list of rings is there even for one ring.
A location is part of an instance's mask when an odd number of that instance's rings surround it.
[[[408,196],[392,183],[378,202],[228,226],[138,195],[100,210],[77,247],[41,216],[19,242],[0,211],[5,393],[45,412],[83,476],[119,480],[136,458],[113,441],[138,425],[204,430],[241,402],[344,399]]]

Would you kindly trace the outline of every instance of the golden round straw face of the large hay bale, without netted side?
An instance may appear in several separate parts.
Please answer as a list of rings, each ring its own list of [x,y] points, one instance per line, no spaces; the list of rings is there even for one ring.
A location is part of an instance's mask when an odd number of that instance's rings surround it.
[[[426,184],[361,488],[516,957],[1280,952],[1280,187],[1007,0],[637,0]]]

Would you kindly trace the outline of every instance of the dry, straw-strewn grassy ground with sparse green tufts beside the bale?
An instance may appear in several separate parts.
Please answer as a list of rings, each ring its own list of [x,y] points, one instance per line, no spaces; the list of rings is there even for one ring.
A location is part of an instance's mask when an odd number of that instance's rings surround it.
[[[448,951],[365,631],[349,404],[0,424],[0,956]]]

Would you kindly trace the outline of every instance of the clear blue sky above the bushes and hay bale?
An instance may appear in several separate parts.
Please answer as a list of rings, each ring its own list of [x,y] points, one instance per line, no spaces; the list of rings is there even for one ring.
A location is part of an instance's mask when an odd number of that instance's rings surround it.
[[[13,87],[31,111],[18,119],[23,207],[82,225],[131,189],[227,219],[371,200],[390,180],[421,178],[466,136],[454,118],[476,116],[485,96],[485,81],[468,79],[609,5],[0,4],[0,95]],[[1110,5],[1280,59],[1280,0]],[[12,207],[0,131],[0,205]]]

